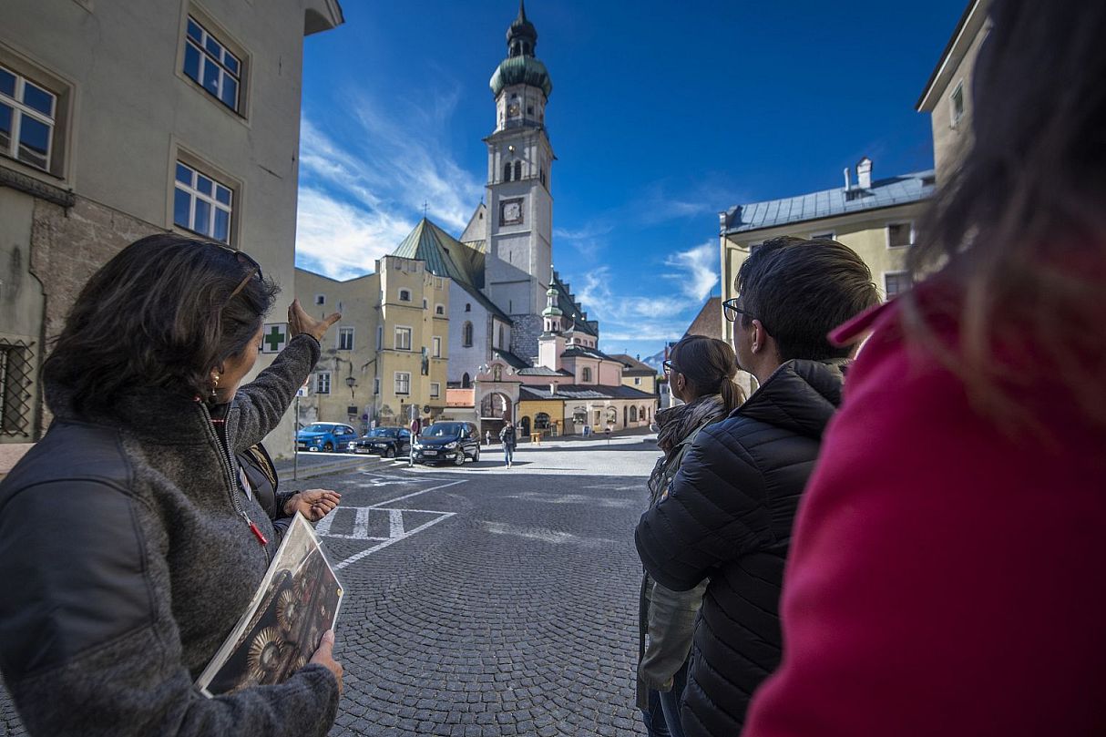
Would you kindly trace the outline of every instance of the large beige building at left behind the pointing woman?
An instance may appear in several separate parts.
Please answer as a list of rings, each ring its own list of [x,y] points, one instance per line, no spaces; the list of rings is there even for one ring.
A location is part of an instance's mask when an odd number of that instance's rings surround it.
[[[342,22],[336,0],[3,0],[0,442],[41,437],[43,346],[128,242],[198,233],[293,282],[303,39]]]

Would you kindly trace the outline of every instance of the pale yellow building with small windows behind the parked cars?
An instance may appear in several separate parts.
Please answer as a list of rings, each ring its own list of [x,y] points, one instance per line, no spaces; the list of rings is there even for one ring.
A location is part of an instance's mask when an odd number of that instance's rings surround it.
[[[437,418],[446,409],[450,279],[418,259],[386,256],[376,273],[336,281],[296,269],[296,297],[317,315],[335,310],[323,357],[300,399],[300,423],[365,429]]]

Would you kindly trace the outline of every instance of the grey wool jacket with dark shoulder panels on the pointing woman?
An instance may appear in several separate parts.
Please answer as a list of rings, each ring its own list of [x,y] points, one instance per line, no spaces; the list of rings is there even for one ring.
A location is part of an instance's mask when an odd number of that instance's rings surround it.
[[[299,335],[239,390],[232,449],[276,425],[319,354]],[[31,735],[325,735],[338,691],[322,665],[210,699],[192,685],[276,549],[204,403],[138,390],[79,417],[64,387],[46,397],[50,430],[0,482],[0,672]]]

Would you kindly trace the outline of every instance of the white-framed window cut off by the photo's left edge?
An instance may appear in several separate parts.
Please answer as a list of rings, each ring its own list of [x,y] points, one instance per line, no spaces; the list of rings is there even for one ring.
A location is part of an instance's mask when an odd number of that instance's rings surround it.
[[[58,95],[0,66],[0,154],[50,172],[56,114]]]

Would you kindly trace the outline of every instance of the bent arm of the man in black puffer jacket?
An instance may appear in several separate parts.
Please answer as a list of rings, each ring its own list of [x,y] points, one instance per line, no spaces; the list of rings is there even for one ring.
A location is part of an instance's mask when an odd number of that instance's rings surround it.
[[[769,540],[760,476],[727,425],[699,433],[668,497],[641,516],[634,534],[646,570],[675,591]]]

